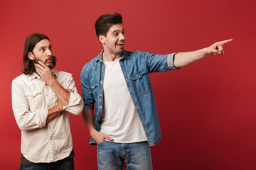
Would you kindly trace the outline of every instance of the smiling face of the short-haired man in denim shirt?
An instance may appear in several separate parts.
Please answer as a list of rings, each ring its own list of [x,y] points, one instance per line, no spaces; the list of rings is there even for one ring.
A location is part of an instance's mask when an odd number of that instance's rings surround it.
[[[120,55],[124,51],[124,28],[121,23],[114,24],[108,30],[107,35],[100,35],[99,40],[108,55]]]

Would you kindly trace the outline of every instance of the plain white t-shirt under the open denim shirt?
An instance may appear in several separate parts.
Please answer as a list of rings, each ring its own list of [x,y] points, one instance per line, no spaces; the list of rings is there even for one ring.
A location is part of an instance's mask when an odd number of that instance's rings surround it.
[[[113,62],[104,62],[104,109],[101,132],[112,137],[113,142],[117,143],[147,141],[119,60],[120,58]]]

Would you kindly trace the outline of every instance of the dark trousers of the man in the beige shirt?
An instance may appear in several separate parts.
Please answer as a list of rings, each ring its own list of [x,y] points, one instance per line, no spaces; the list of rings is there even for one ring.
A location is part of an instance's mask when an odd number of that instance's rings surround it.
[[[52,163],[21,164],[20,170],[74,170],[73,158]]]

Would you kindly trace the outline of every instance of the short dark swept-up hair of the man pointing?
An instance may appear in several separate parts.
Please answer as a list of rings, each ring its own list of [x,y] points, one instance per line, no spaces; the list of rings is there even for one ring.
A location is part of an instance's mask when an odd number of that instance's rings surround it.
[[[114,24],[122,23],[122,16],[120,13],[112,14],[104,14],[100,16],[95,23],[95,30],[97,38],[99,39],[99,35],[107,36],[108,30]]]

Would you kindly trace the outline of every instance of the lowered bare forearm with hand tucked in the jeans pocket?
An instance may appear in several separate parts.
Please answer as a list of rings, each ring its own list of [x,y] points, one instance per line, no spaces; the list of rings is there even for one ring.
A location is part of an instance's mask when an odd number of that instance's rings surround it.
[[[83,109],[82,110],[82,119],[84,120],[84,123],[90,132],[90,136],[92,137],[93,140],[95,140],[95,142],[97,144],[103,142],[105,139],[112,140],[112,138],[109,137],[108,135],[106,135],[105,133],[98,132],[95,129],[95,126],[93,124],[94,115],[93,115],[92,109],[90,109],[90,108]]]

